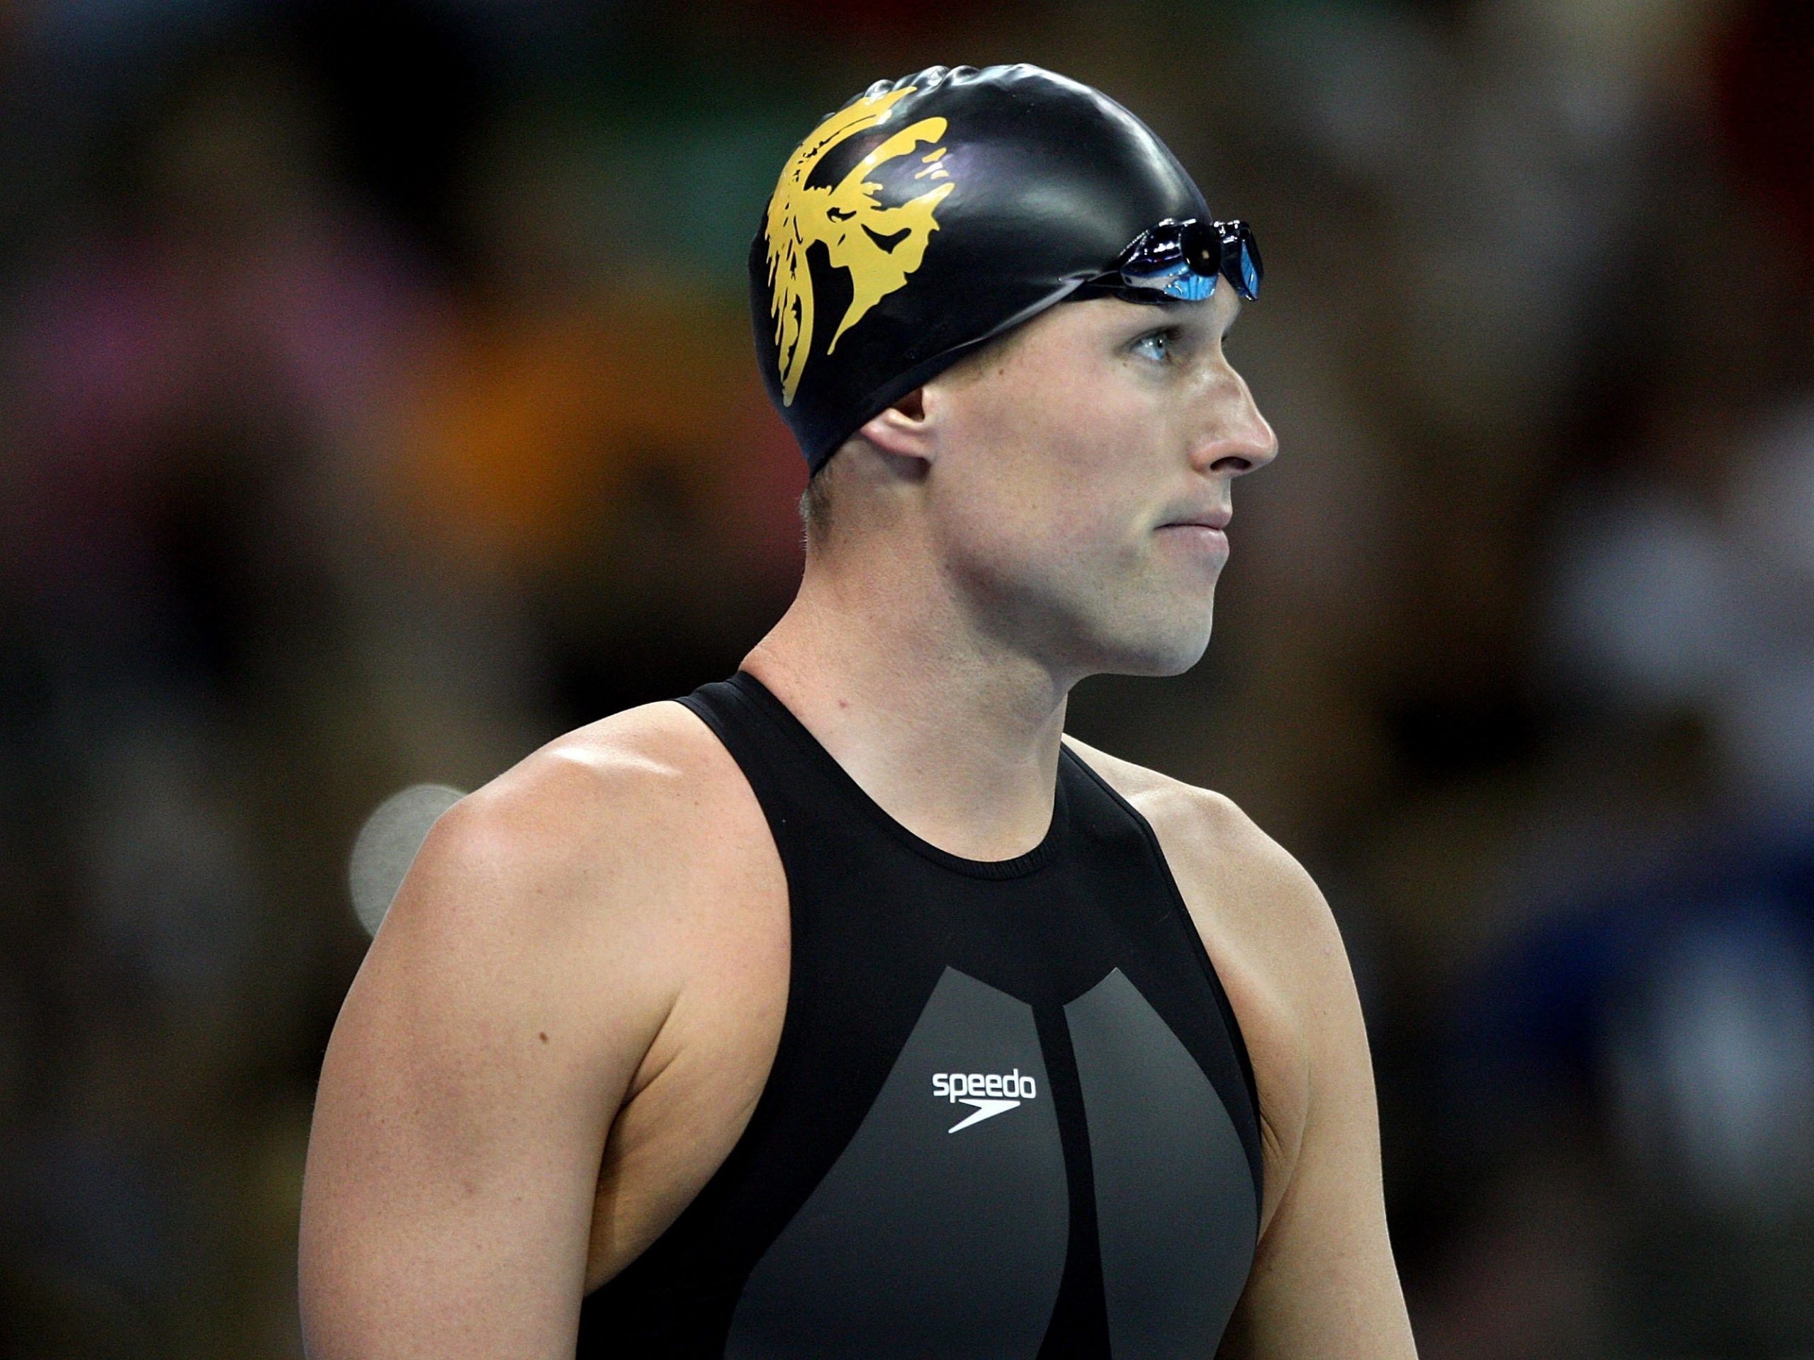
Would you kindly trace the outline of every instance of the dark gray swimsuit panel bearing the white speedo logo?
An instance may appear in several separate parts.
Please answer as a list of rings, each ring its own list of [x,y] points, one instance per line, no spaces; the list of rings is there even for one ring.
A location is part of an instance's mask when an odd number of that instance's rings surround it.
[[[932,1073],[1032,1077],[978,1113]],[[727,1360],[1032,1360],[1070,1204],[1032,1008],[945,968],[856,1137],[756,1262]]]

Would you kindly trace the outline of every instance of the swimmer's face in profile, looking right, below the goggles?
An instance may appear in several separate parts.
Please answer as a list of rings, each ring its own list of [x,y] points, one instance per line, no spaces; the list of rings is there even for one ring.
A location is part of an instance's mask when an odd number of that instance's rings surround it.
[[[1230,484],[1277,452],[1223,352],[1239,305],[1061,303],[923,388],[940,555],[985,631],[1074,676],[1203,656]]]

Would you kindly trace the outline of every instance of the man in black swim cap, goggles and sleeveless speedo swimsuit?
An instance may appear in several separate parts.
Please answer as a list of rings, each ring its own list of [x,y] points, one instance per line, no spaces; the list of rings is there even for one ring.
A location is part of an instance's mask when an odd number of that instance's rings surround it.
[[[1061,736],[1208,644],[1252,234],[1096,91],[932,67],[751,285],[800,595],[430,834],[321,1075],[312,1355],[1411,1356],[1328,908]]]

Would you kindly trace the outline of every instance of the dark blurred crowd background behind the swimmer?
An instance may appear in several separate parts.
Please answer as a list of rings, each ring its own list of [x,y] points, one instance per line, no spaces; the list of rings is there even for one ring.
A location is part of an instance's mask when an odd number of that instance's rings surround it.
[[[354,896],[780,613],[773,176],[1012,60],[1264,245],[1210,656],[1072,727],[1324,885],[1422,1355],[1814,1356],[1801,0],[0,5],[0,1355],[301,1353]]]

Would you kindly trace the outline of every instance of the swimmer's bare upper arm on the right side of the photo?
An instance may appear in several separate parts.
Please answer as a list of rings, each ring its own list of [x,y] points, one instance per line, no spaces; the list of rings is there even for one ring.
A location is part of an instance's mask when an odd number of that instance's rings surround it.
[[[1304,1133],[1221,1347],[1224,1360],[1415,1356],[1386,1233],[1360,1005],[1344,957],[1317,972],[1304,1026],[1315,1035]]]

